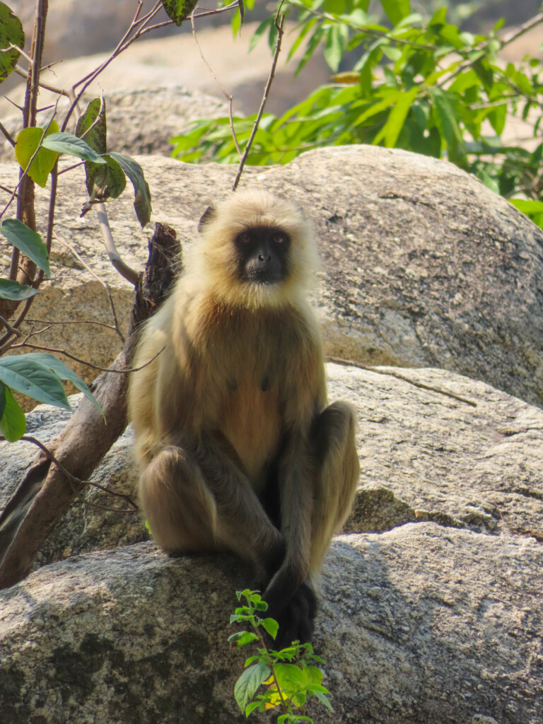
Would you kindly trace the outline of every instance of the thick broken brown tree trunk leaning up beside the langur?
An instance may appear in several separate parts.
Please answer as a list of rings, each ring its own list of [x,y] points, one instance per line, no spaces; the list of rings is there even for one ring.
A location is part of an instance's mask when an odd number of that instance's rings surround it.
[[[175,232],[156,224],[146,274],[135,295],[127,342],[111,368],[130,369],[141,323],[166,298],[178,259]],[[69,474],[41,452],[12,495],[0,515],[0,588],[12,586],[28,575],[43,541],[83,489],[74,478],[88,480],[125,429],[127,385],[127,374],[101,374],[93,390],[106,424],[84,397],[62,432],[48,443],[56,461]]]

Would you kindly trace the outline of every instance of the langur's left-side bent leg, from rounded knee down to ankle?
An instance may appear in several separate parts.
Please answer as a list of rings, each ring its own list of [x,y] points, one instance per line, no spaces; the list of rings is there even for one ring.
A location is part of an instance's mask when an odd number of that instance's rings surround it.
[[[165,447],[140,479],[153,539],[169,552],[232,550],[265,565],[283,542],[250,484],[209,449]]]

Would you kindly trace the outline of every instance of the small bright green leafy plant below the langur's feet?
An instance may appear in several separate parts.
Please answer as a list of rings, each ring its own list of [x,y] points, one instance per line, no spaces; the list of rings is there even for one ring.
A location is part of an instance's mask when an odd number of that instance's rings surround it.
[[[230,623],[248,622],[252,631],[233,633],[228,641],[237,649],[248,644],[258,647],[258,653],[245,661],[245,671],[234,688],[240,710],[248,716],[255,710],[266,712],[279,707],[282,714],[277,718],[277,724],[313,724],[313,719],[306,715],[306,703],[314,696],[332,711],[327,698],[329,691],[322,686],[323,672],[318,666],[324,661],[313,653],[311,644],[293,641],[286,649],[269,649],[262,628],[275,640],[279,625],[273,618],[261,618],[260,614],[266,612],[268,604],[258,591],[245,589],[236,595],[238,601],[244,598],[247,605],[236,608]]]

